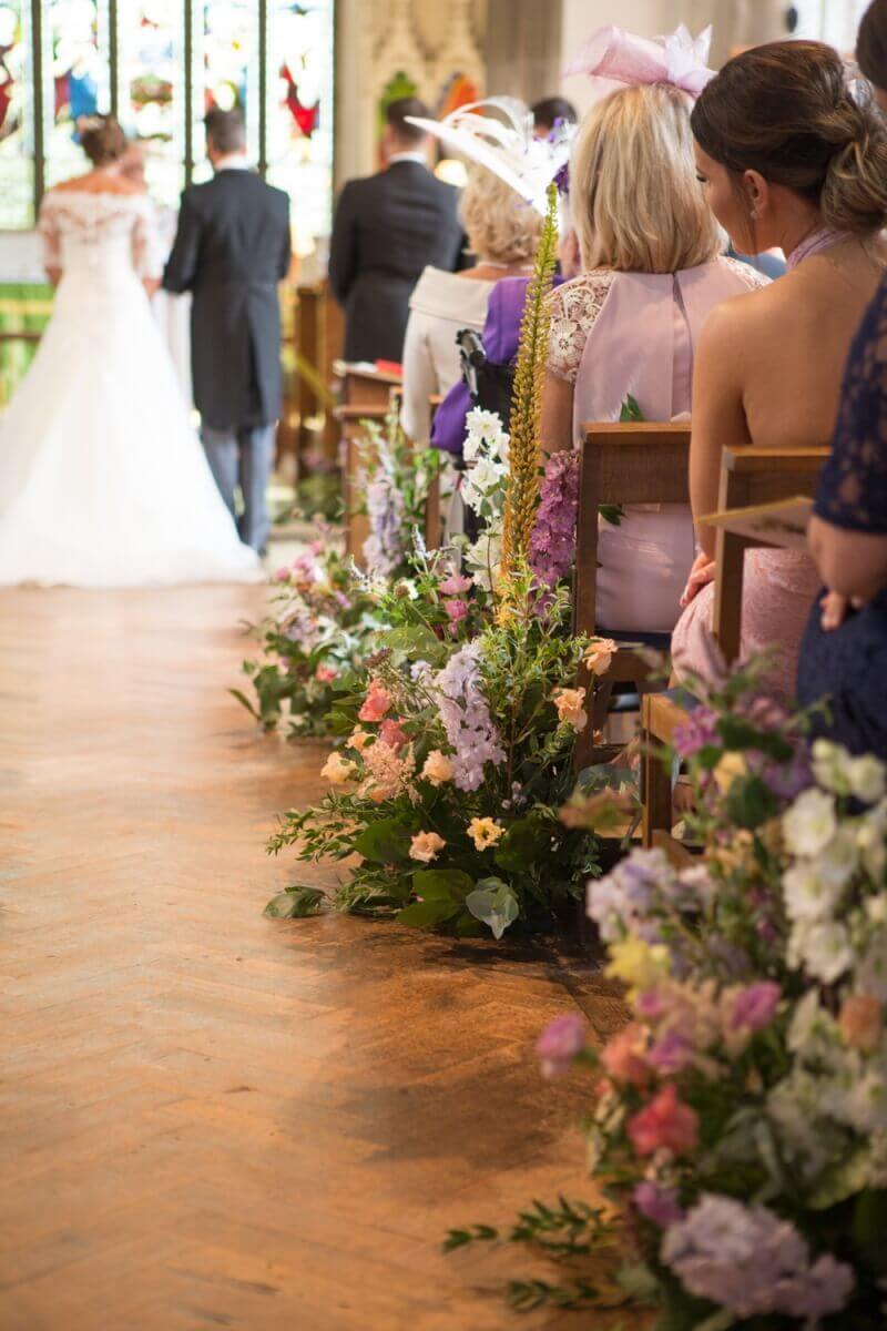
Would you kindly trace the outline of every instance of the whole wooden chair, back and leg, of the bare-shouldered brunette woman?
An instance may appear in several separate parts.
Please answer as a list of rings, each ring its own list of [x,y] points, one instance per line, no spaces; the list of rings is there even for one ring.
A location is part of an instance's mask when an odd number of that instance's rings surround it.
[[[747,534],[747,508],[798,496],[811,496],[828,449],[725,449],[721,459],[717,520],[717,576],[711,631],[730,664],[739,655],[742,638],[742,580],[745,552],[753,547],[778,548],[777,536]],[[743,530],[730,530],[730,519]],[[705,519],[702,519],[705,522]],[[794,542],[793,542],[794,544]],[[688,712],[664,695],[650,693],[642,703],[642,839],[645,847],[661,847],[680,860],[686,851],[672,837],[672,773],[662,760],[674,731]]]

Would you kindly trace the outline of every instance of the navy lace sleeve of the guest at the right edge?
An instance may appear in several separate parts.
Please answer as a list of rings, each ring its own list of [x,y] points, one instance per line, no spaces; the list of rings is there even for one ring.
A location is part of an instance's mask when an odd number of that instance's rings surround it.
[[[887,278],[850,350],[815,510],[835,527],[887,532]]]

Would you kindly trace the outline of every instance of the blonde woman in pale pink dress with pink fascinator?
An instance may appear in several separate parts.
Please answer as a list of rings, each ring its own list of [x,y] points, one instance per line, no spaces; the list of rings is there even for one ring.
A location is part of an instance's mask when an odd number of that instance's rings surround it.
[[[636,39],[618,36],[626,87],[592,108],[570,162],[585,272],[551,298],[543,395],[549,451],[578,445],[586,421],[618,421],[629,395],[648,421],[685,415],[710,310],[766,281],[721,257],[722,234],[696,180],[692,92],[670,80],[664,55],[653,64],[652,43],[636,65]],[[586,72],[596,75],[593,67]],[[702,76],[710,77],[698,67],[688,71],[688,85]],[[618,527],[602,523],[598,559],[601,631],[669,632],[693,563],[689,507],[632,507]]]

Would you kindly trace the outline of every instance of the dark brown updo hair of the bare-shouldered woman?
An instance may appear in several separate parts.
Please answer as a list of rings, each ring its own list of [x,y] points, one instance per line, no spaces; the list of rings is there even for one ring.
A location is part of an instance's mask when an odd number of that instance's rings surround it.
[[[715,162],[795,190],[836,232],[887,224],[887,129],[851,96],[840,56],[821,41],[734,56],[703,88],[692,126]]]

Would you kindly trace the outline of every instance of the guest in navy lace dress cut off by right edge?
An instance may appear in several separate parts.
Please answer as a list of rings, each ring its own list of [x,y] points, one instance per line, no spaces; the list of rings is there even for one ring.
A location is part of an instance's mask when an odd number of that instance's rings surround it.
[[[887,0],[866,12],[856,59],[887,106]],[[887,761],[887,281],[850,351],[810,548],[831,591],[807,622],[798,696],[828,700],[828,711],[814,715],[815,733]]]

